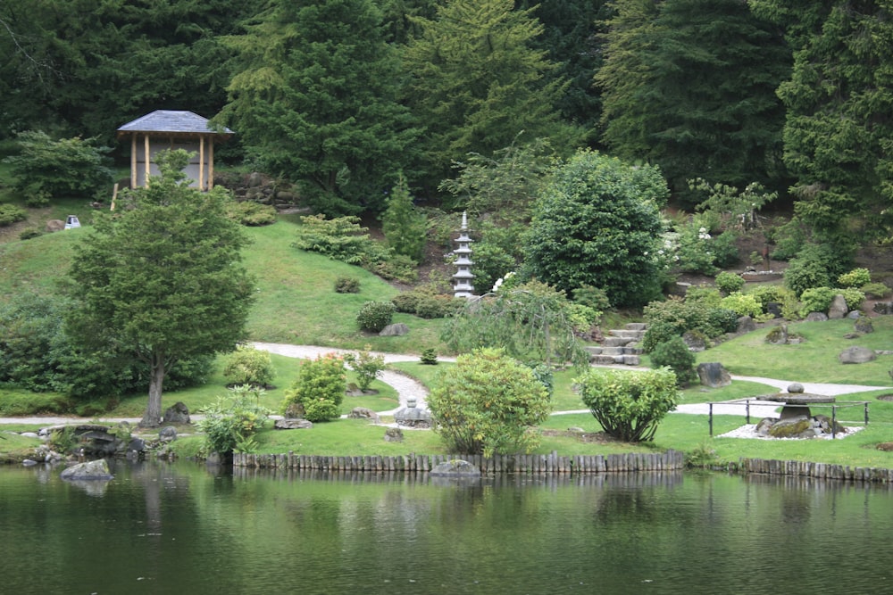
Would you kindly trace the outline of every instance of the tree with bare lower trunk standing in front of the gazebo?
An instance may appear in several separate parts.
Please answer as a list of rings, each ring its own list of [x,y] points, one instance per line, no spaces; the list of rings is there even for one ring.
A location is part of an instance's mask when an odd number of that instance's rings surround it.
[[[70,335],[129,350],[150,368],[142,426],[158,426],[165,375],[182,359],[231,351],[244,338],[253,282],[239,264],[246,236],[221,188],[200,193],[181,169],[188,153],[157,157],[161,178],[98,217],[69,277]]]

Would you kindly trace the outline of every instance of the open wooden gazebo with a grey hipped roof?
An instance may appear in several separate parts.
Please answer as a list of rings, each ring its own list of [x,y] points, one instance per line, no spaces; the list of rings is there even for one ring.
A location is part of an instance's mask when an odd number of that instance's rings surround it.
[[[214,142],[233,135],[208,126],[208,120],[183,110],[155,110],[118,128],[118,138],[130,137],[130,187],[147,186],[149,176],[160,171],[152,157],[164,149],[196,153],[186,167],[190,186],[210,190],[214,186]]]

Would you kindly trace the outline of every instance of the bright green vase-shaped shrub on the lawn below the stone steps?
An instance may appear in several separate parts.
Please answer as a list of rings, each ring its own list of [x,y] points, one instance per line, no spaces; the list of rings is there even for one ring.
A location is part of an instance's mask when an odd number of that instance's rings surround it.
[[[589,369],[574,382],[605,433],[624,442],[652,440],[680,397],[676,375],[669,368],[647,372]]]

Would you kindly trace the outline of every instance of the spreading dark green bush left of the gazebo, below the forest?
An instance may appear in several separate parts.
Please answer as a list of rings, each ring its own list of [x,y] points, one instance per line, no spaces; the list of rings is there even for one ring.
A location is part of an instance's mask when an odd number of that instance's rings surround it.
[[[21,194],[92,198],[97,190],[112,190],[108,147],[79,136],[52,140],[44,132],[19,133],[19,154],[7,157],[15,189]]]

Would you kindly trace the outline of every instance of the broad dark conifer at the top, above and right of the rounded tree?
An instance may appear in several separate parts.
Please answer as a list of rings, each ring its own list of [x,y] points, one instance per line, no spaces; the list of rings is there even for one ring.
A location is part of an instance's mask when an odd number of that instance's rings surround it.
[[[605,34],[604,141],[687,178],[777,185],[790,53],[740,0],[618,0]]]

